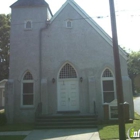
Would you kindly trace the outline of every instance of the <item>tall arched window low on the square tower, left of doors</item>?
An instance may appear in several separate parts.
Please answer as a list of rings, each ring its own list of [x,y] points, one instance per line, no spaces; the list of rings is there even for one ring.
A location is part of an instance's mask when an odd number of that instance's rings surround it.
[[[30,72],[26,72],[22,80],[22,106],[34,105],[34,81]]]

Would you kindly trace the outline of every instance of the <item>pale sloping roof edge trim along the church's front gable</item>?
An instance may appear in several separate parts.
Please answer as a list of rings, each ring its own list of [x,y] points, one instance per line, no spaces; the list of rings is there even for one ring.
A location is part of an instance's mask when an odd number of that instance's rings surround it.
[[[51,22],[54,21],[54,19],[68,4],[70,4],[83,17],[83,19],[85,19],[92,26],[110,46],[113,46],[112,38],[92,18],[89,18],[89,15],[74,0],[66,0],[62,7],[55,13],[51,19]],[[127,60],[127,53],[121,47],[119,47],[119,53]]]

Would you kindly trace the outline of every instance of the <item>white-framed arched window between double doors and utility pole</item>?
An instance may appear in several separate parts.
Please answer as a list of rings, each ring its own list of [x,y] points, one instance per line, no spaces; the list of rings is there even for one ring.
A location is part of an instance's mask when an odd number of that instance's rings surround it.
[[[107,68],[102,74],[103,103],[110,103],[115,99],[114,76]]]

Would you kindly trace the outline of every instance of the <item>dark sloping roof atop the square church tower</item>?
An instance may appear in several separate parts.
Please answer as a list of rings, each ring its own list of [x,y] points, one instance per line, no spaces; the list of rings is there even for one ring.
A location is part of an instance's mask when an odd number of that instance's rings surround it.
[[[18,0],[10,7],[26,7],[26,6],[48,6],[45,0]]]

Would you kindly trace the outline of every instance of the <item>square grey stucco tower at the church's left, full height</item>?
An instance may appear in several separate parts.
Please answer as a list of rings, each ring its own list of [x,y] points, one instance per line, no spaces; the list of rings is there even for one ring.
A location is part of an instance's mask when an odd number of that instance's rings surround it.
[[[33,76],[32,107],[30,108],[29,121],[33,121],[36,102],[39,99],[39,50],[40,31],[46,27],[46,21],[52,17],[52,12],[45,0],[18,0],[11,5],[11,30],[10,30],[10,70],[7,97],[7,115],[9,122],[24,116],[22,107],[23,97],[23,75],[30,72]],[[16,114],[14,109],[16,108]],[[18,120],[17,120],[18,121]]]

